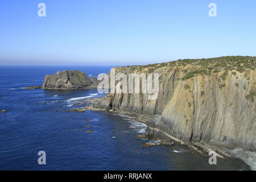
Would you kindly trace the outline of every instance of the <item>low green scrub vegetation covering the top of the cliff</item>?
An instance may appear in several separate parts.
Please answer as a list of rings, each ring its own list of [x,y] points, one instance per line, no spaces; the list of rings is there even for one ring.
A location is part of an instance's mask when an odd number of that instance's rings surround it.
[[[127,66],[132,71],[143,72],[147,71],[152,73],[155,69],[163,67],[188,67],[183,69],[185,76],[182,80],[198,76],[198,75],[210,75],[211,73],[218,73],[221,71],[233,71],[243,72],[246,69],[254,70],[256,68],[256,57],[251,56],[225,56],[214,57],[209,59],[183,59],[177,61],[170,61],[167,63],[156,63],[148,65]],[[126,67],[126,68],[127,68]],[[192,67],[192,68],[190,68]],[[233,72],[235,75],[236,72]]]

